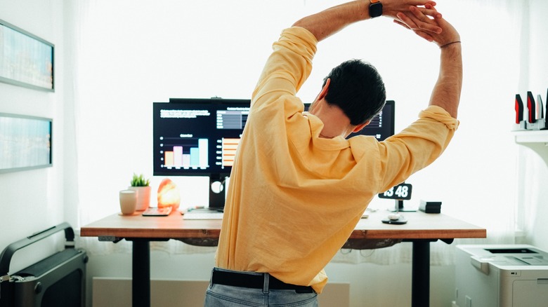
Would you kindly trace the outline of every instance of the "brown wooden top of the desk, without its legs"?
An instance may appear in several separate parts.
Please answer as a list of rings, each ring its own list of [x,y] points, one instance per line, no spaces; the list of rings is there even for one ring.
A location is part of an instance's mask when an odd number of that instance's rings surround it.
[[[485,238],[487,231],[445,214],[402,212],[407,224],[384,224],[388,212],[379,210],[361,219],[351,239],[450,239]],[[221,220],[185,220],[180,212],[168,217],[143,217],[139,214],[112,214],[81,228],[83,237],[110,238],[218,238]]]

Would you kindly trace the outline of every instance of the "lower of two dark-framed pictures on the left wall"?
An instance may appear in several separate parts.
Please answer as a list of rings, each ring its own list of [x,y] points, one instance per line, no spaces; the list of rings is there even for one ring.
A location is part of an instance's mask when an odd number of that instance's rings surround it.
[[[51,118],[0,113],[0,173],[52,166]]]

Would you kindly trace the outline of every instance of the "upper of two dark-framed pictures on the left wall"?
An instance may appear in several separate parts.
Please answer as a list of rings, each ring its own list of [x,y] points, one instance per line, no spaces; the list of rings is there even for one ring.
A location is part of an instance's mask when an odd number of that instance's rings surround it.
[[[0,81],[53,92],[53,44],[0,20]]]

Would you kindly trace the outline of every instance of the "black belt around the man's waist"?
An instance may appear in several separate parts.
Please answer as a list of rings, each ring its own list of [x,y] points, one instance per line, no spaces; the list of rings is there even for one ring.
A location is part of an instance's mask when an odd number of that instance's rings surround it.
[[[297,293],[312,293],[314,290],[310,286],[292,285],[282,282],[278,278],[268,273],[246,274],[227,271],[213,271],[211,283],[217,285],[226,285],[233,287],[244,287],[252,289],[263,289],[265,284],[265,275],[268,275],[268,289],[275,290],[295,290]]]

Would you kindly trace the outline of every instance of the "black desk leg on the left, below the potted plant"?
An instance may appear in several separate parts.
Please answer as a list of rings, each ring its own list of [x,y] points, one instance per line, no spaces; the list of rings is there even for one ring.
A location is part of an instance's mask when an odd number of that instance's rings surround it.
[[[150,307],[150,242],[133,239],[133,281],[131,302],[133,307]]]

